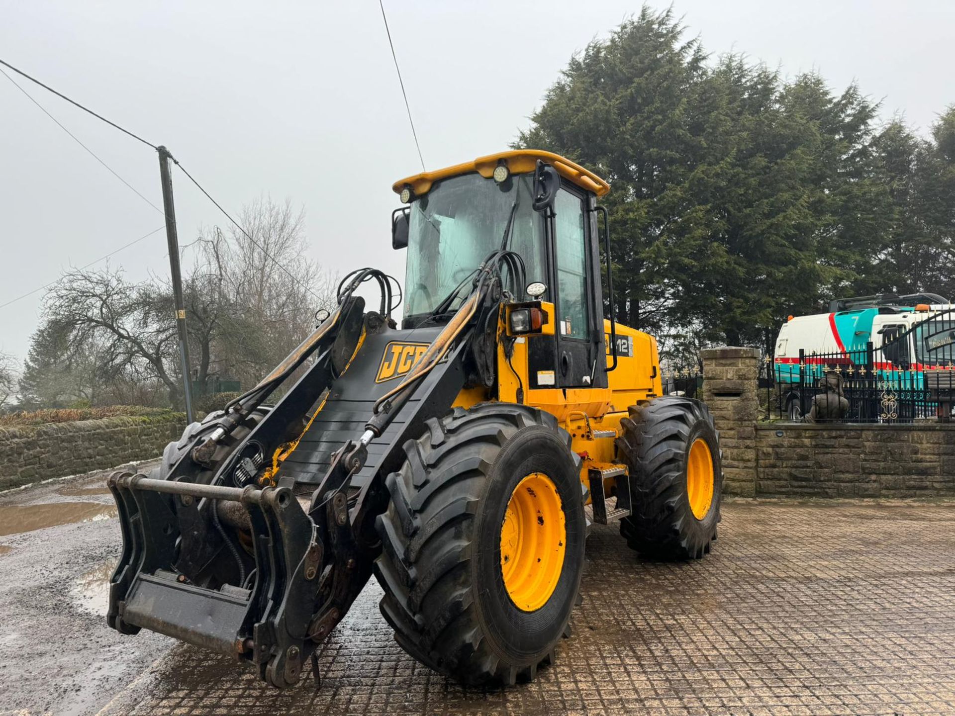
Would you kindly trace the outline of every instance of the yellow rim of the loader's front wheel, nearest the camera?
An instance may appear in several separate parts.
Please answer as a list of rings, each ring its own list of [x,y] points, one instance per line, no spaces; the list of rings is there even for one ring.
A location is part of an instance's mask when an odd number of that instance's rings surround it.
[[[500,525],[500,571],[518,609],[533,612],[554,594],[566,541],[557,487],[545,474],[528,474],[514,488]]]

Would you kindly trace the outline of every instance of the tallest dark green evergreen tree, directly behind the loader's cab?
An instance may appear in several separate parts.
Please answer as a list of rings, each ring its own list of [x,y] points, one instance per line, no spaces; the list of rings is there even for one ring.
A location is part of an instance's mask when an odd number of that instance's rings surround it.
[[[612,183],[617,318],[631,326],[667,320],[668,232],[699,146],[689,125],[705,59],[671,11],[645,7],[571,59],[515,144],[560,152]]]

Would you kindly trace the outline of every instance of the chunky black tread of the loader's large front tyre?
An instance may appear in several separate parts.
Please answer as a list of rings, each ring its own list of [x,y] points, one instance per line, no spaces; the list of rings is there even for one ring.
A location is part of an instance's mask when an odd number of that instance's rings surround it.
[[[391,502],[376,519],[383,547],[374,564],[385,590],[382,614],[405,651],[465,684],[513,684],[518,678],[519,669],[482,636],[467,565],[494,458],[511,435],[535,425],[562,432],[553,415],[526,406],[456,408],[429,420],[421,437],[405,443],[407,459],[385,481]],[[570,435],[563,434],[569,450]],[[549,658],[552,652],[541,663]],[[533,678],[538,665],[522,666],[521,676]]]

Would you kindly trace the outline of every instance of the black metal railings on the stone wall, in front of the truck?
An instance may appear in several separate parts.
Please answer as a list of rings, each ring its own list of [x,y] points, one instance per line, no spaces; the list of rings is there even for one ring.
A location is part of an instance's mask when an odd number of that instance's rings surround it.
[[[868,341],[832,353],[799,350],[768,358],[760,383],[766,417],[789,421],[909,423],[949,421],[955,403],[955,309],[914,326],[881,328]]]

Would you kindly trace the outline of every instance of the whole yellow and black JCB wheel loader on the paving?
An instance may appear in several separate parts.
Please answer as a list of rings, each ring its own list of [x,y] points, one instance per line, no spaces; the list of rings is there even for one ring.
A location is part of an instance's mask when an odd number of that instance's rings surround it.
[[[158,470],[111,475],[113,628],[233,655],[278,687],[311,657],[318,681],[316,647],[373,574],[414,659],[513,684],[569,635],[591,520],[619,519],[654,557],[710,551],[717,434],[705,405],[661,395],[654,339],[614,320],[605,180],[520,150],[393,190],[401,325],[397,282],[353,272],[314,333]]]

